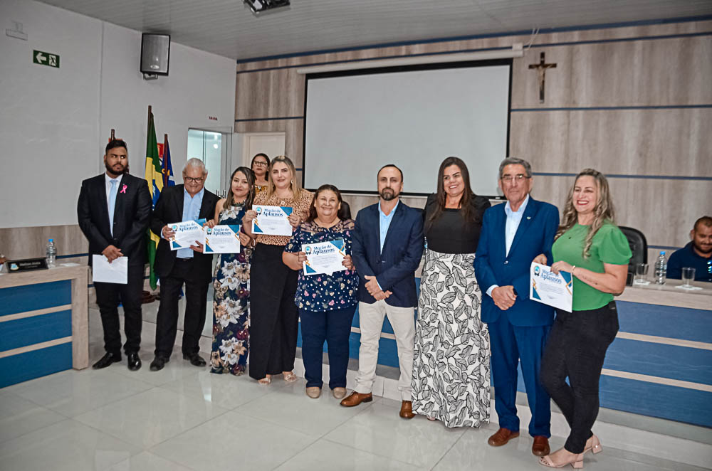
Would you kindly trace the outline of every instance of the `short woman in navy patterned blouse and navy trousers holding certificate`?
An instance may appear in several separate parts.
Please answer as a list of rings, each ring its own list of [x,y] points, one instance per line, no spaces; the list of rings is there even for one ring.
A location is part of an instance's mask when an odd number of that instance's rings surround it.
[[[351,234],[354,221],[347,213],[340,191],[333,185],[322,185],[316,191],[309,217],[300,224],[287,244],[282,259],[292,270],[298,270],[299,282],[295,303],[302,325],[302,359],[306,393],[318,398],[323,381],[324,341],[329,351],[329,387],[333,396],[346,396],[346,370],[349,364],[349,337],[356,310],[358,275],[351,261]],[[304,244],[339,240],[343,243],[346,270],[333,274],[305,276]]]

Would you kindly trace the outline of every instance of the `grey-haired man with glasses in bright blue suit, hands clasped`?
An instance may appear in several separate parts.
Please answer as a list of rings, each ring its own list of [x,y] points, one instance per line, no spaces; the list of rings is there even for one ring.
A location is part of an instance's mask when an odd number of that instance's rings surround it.
[[[551,263],[559,211],[529,196],[532,173],[525,160],[504,159],[499,166],[499,186],[507,203],[485,211],[473,263],[480,289],[487,293],[482,297],[481,317],[489,328],[500,427],[488,443],[501,446],[519,436],[516,398],[520,363],[532,413],[532,453],[544,456],[550,450],[551,411],[539,369],[554,309],[529,299],[529,269],[540,253]]]

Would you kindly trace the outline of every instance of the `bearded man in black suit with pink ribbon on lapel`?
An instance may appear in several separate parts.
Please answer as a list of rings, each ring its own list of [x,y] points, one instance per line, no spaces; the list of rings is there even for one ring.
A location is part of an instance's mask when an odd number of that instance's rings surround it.
[[[92,255],[104,255],[109,262],[128,257],[126,285],[95,282],[96,303],[104,328],[106,354],[92,367],[100,369],[121,361],[119,300],[124,307],[124,351],[129,369],[140,369],[141,297],[146,263],[145,234],[151,216],[151,195],[144,179],[128,174],[126,143],[114,139],[104,154],[106,172],[82,182],[77,203],[79,227],[89,240]]]

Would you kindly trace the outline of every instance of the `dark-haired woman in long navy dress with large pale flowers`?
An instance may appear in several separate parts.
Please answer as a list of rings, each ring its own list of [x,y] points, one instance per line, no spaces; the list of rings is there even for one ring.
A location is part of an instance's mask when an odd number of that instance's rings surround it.
[[[252,207],[254,174],[238,167],[230,178],[230,193],[215,206],[208,226],[240,226]],[[213,348],[211,373],[245,374],[250,349],[250,261],[253,240],[240,232],[240,253],[222,253],[215,265],[213,287]]]

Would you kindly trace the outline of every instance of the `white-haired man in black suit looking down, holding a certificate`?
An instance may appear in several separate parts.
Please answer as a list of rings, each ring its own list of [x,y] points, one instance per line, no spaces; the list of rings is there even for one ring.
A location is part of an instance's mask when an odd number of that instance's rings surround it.
[[[218,197],[203,188],[208,171],[199,159],[189,159],[183,169],[183,185],[161,191],[151,216],[151,231],[161,240],[156,252],[155,272],[161,282],[161,304],[156,319],[156,351],[151,371],[163,369],[173,351],[178,328],[178,297],[185,283],[183,359],[195,366],[206,362],[198,354],[198,341],[205,324],[208,285],[212,278],[212,255],[203,253],[201,240],[190,248],[171,250],[171,223],[213,218]]]

